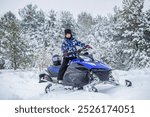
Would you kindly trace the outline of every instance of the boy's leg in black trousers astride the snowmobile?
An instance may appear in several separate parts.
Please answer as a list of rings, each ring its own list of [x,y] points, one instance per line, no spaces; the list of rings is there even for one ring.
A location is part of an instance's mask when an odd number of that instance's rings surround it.
[[[68,63],[69,63],[69,58],[64,57],[62,65],[58,72],[57,80],[63,80],[63,76],[64,76],[65,71],[67,70]]]

